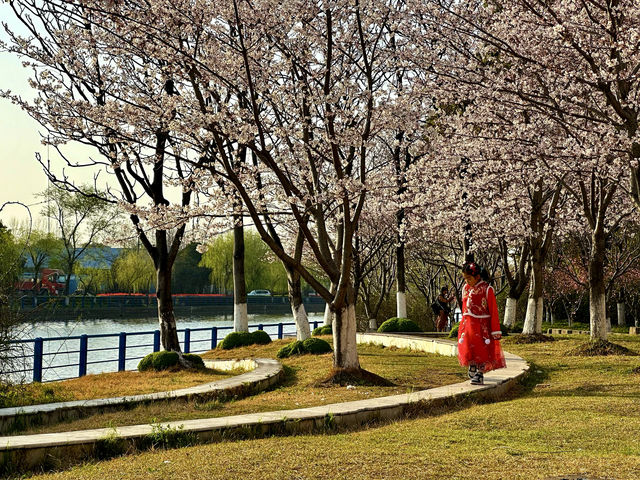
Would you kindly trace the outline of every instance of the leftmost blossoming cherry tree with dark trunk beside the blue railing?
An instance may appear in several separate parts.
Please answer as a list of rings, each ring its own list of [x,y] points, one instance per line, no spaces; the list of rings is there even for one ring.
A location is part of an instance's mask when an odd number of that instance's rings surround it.
[[[179,92],[171,72],[140,48],[121,43],[88,4],[24,0],[11,2],[11,8],[29,35],[20,37],[5,25],[11,39],[8,50],[32,68],[37,97],[30,102],[11,92],[2,95],[46,129],[47,143],[68,167],[89,169],[96,177],[107,171],[115,177],[119,192],[112,187],[102,197],[120,202],[129,212],[153,259],[161,343],[166,350],[180,352],[171,268],[188,219],[191,165],[201,164],[206,155],[185,144],[173,128]],[[60,148],[68,142],[88,145],[98,156],[68,158]],[[185,161],[189,155],[195,157],[192,162]],[[86,194],[66,171],[47,174],[63,188]]]

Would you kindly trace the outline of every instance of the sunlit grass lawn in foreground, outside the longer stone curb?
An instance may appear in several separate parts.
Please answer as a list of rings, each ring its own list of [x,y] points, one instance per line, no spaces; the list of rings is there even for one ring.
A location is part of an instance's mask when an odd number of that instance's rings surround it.
[[[532,364],[496,403],[334,434],[158,450],[39,479],[640,478],[640,357],[569,357],[587,337],[505,349]],[[611,340],[640,353],[640,337]]]

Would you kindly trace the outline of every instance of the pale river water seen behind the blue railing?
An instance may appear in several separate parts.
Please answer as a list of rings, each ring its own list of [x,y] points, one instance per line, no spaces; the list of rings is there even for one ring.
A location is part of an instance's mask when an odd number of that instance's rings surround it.
[[[310,313],[310,322],[323,322],[323,314]],[[293,323],[291,315],[249,315],[249,330],[256,330],[258,324],[263,324],[264,330],[276,339],[278,327],[269,324]],[[191,332],[190,350],[191,352],[207,351],[211,348],[212,327],[218,327],[217,340],[221,341],[233,327],[233,317],[231,315],[220,315],[210,317],[181,317],[177,319],[179,330],[196,330]],[[311,325],[313,328],[313,324]],[[135,370],[139,359],[153,351],[153,334],[141,334],[140,332],[153,332],[158,329],[157,318],[136,318],[136,319],[100,319],[100,320],[80,320],[80,321],[46,321],[37,323],[25,323],[19,327],[20,339],[34,339],[41,337],[43,342],[42,360],[42,380],[55,381],[65,378],[77,377],[79,373],[80,359],[80,335],[88,335],[87,341],[87,373],[114,372],[118,370],[118,353],[120,345],[120,332],[126,335],[126,370]],[[197,329],[206,329],[198,331]],[[285,335],[294,335],[295,326],[285,325]],[[138,332],[138,333],[136,333]],[[112,334],[112,335],[108,335]],[[92,337],[93,335],[104,335],[102,337]],[[183,343],[184,332],[178,334]],[[54,340],[47,340],[47,339]],[[25,372],[14,372],[10,378],[15,381],[30,382],[33,379],[33,342],[25,342],[15,345],[15,356],[17,357],[10,368],[11,371],[25,370]],[[5,370],[6,371],[6,370]]]

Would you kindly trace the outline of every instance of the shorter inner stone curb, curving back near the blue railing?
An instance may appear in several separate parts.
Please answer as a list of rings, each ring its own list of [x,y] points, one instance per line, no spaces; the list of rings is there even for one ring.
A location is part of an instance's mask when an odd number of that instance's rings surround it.
[[[249,371],[231,378],[168,392],[2,408],[0,409],[0,433],[22,430],[32,425],[50,425],[158,401],[244,397],[266,390],[280,382],[284,376],[280,362],[269,358],[205,360],[204,363],[207,368],[215,370],[229,371],[240,368]]]

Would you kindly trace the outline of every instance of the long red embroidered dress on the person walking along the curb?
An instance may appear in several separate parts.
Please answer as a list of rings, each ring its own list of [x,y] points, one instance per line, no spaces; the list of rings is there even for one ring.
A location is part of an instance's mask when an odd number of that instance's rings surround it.
[[[506,362],[500,340],[500,319],[496,295],[484,280],[462,288],[462,320],[458,327],[460,365],[476,365],[481,372],[504,368]]]

